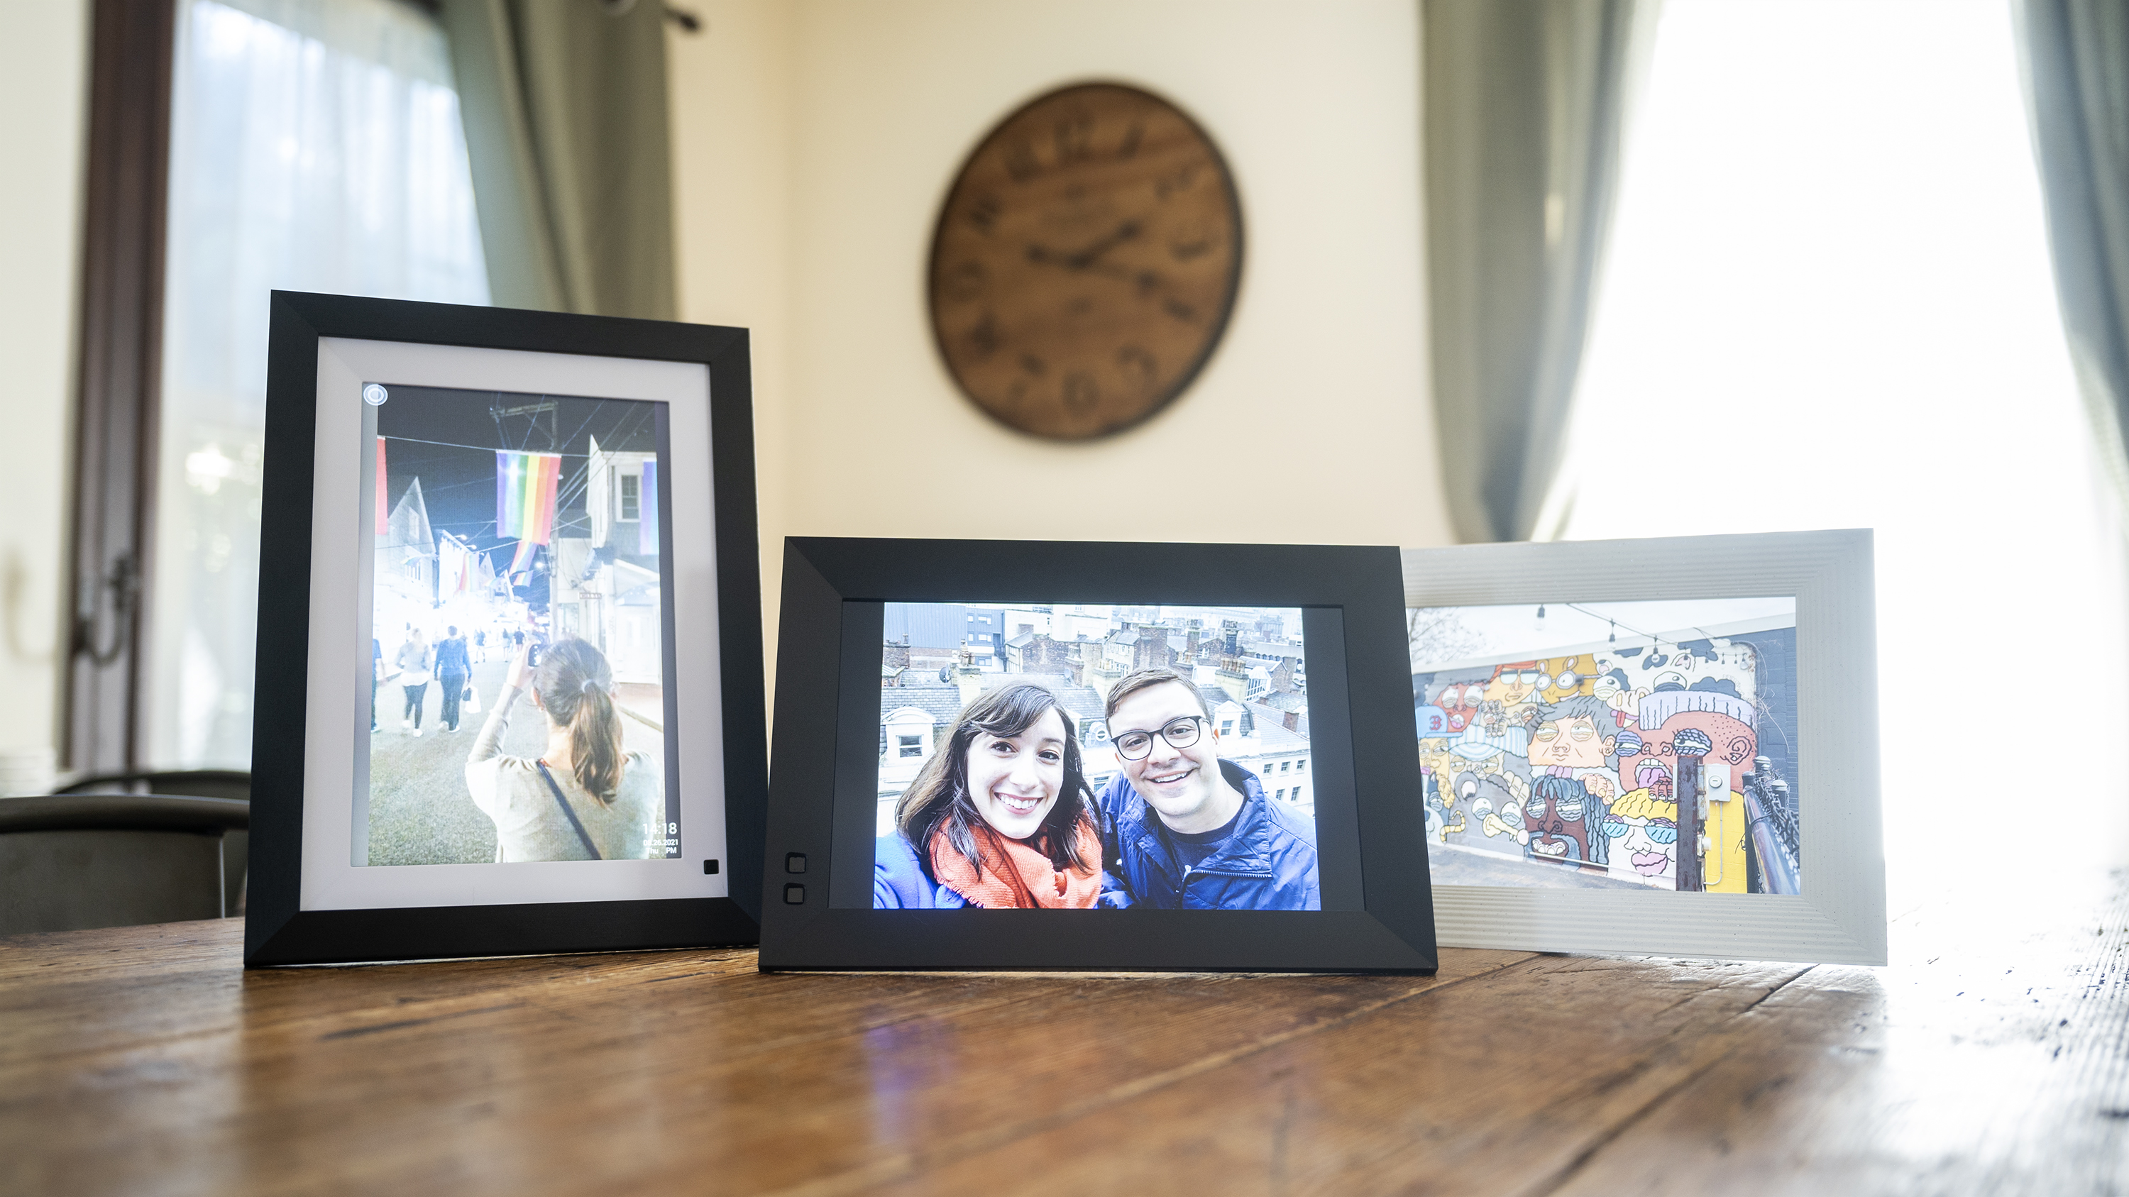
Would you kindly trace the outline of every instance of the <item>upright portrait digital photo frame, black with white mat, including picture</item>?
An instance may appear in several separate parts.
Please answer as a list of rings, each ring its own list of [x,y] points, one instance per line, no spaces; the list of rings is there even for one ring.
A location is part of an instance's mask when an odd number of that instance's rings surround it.
[[[752,944],[747,334],[275,292],[247,965]]]

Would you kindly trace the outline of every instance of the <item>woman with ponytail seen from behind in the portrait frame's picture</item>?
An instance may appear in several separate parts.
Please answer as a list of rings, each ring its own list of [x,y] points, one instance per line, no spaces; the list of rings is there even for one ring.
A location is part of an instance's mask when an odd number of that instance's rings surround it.
[[[496,822],[496,860],[643,860],[664,856],[664,780],[658,760],[622,748],[613,667],[581,639],[562,639],[511,671],[473,756],[466,788]],[[502,756],[511,709],[526,688],[547,716],[537,758]]]

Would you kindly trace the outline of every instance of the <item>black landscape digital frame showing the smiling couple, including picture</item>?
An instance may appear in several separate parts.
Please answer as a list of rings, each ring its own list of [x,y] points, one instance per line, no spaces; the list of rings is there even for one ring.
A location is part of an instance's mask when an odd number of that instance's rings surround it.
[[[1435,969],[1390,547],[794,537],[762,969]]]

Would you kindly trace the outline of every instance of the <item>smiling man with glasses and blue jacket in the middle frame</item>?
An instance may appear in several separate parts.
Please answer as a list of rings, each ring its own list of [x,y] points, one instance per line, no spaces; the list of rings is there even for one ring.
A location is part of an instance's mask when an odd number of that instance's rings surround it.
[[[1122,771],[1101,799],[1101,905],[1322,909],[1316,822],[1220,758],[1199,688],[1173,669],[1124,675],[1107,701]]]

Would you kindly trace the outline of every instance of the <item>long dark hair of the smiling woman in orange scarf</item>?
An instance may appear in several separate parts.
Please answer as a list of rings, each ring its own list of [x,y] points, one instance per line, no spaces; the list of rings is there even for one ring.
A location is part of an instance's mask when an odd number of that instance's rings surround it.
[[[984,814],[975,809],[969,794],[969,745],[977,733],[1011,739],[1043,714],[1056,711],[1064,724],[1064,782],[1058,786],[1058,801],[1043,816],[1035,835],[1035,846],[1050,856],[1058,869],[1086,869],[1094,860],[1079,858],[1079,824],[1094,822],[1094,790],[1086,784],[1079,763],[1079,735],[1071,726],[1071,711],[1045,686],[1028,682],[999,686],[979,694],[954,718],[945,741],[933,748],[930,760],[918,769],[915,780],[903,790],[894,805],[894,826],[918,850],[924,873],[930,875],[930,841],[945,826],[945,839],[971,865],[979,860],[975,850],[975,824]]]

